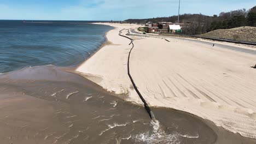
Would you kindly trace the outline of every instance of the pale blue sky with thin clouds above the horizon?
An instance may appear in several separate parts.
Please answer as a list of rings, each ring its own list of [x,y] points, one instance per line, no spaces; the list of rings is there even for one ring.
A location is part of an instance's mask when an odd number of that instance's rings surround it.
[[[181,0],[181,14],[252,8],[255,0]],[[126,20],[177,15],[178,0],[0,0],[1,20]]]

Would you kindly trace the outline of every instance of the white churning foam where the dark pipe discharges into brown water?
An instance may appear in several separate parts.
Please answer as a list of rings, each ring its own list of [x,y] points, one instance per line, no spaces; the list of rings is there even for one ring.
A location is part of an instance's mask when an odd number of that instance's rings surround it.
[[[180,136],[177,133],[166,134],[165,131],[161,129],[159,121],[152,121],[150,125],[152,125],[153,131],[146,131],[132,136],[132,139],[135,140],[136,143],[180,143]]]

